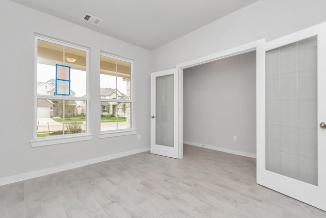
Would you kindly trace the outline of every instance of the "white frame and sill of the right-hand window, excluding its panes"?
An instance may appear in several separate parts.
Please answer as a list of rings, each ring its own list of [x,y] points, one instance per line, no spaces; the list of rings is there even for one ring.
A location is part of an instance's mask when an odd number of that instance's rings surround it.
[[[134,114],[135,114],[135,110],[134,110],[134,79],[133,79],[133,60],[131,59],[127,59],[127,58],[122,58],[116,55],[111,55],[110,53],[107,52],[100,52],[100,57],[101,56],[105,56],[108,58],[113,58],[116,60],[120,60],[120,61],[125,61],[125,62],[129,62],[130,63],[130,100],[120,100],[120,99],[116,99],[116,98],[112,98],[112,99],[102,99],[101,96],[99,96],[100,98],[100,108],[101,108],[101,103],[102,102],[116,102],[116,103],[130,103],[131,104],[131,109],[130,109],[130,122],[131,122],[131,127],[129,129],[115,129],[115,130],[101,130],[101,126],[100,126],[100,133],[99,133],[99,138],[108,138],[108,137],[116,137],[116,136],[124,136],[124,135],[133,135],[133,134],[137,134],[137,130],[135,129],[135,119],[134,119]],[[99,72],[101,75],[101,72]],[[117,77],[117,76],[116,76]],[[100,88],[100,83],[99,83],[99,88]],[[101,111],[101,110],[99,110]],[[99,113],[99,117],[100,117],[101,113]],[[101,123],[100,123],[101,125]]]

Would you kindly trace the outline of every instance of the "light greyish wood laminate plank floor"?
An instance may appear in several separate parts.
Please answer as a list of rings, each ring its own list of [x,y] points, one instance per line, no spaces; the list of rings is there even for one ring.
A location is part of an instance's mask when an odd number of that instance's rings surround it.
[[[0,186],[0,217],[326,217],[256,184],[256,160],[184,146]]]

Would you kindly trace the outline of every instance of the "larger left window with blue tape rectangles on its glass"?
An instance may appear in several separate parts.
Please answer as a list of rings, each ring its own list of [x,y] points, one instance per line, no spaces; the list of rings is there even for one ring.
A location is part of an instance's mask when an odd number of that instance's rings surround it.
[[[36,36],[36,54],[35,140],[31,142],[86,135],[89,50]]]

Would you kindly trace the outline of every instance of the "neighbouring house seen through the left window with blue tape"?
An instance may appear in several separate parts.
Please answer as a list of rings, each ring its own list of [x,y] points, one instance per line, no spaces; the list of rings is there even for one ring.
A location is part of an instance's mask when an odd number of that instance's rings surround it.
[[[37,82],[37,93],[42,95],[55,95],[56,91],[56,80],[50,79],[45,82]],[[71,96],[74,96],[75,92],[71,90]],[[66,108],[66,115],[75,116],[77,115],[77,104],[75,101],[67,101],[69,105]],[[51,99],[39,99],[37,101],[37,117],[53,117],[63,116],[62,109],[58,108],[60,101]]]

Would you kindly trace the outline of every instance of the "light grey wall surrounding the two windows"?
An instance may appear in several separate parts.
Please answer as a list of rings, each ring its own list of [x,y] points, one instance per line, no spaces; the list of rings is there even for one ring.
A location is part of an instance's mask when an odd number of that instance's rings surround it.
[[[101,156],[149,148],[151,53],[8,0],[0,3],[2,96],[0,114],[0,180]],[[90,141],[32,148],[34,34],[39,33],[90,47]],[[100,51],[134,60],[135,124],[137,135],[99,139]],[[4,181],[4,179],[3,179]]]

